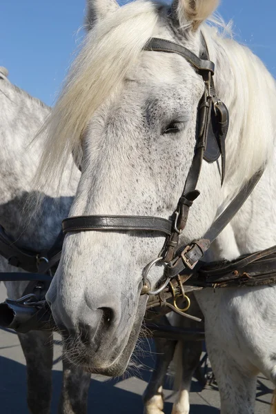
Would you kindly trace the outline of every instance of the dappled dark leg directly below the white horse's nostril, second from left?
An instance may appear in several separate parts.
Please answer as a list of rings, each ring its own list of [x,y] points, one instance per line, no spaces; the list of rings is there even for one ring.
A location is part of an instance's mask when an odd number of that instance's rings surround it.
[[[66,357],[63,357],[63,384],[59,414],[86,414],[90,377],[90,373],[70,364]]]

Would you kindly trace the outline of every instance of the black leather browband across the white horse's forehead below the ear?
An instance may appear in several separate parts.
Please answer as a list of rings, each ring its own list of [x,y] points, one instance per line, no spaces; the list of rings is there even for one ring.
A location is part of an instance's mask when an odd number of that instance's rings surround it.
[[[197,55],[195,55],[195,53],[184,48],[184,46],[178,45],[177,43],[173,43],[169,40],[152,37],[148,43],[146,43],[146,46],[144,46],[144,50],[152,52],[177,53],[177,55],[184,57],[184,59],[186,59],[186,61],[188,61],[193,68],[197,70],[197,72],[210,72],[212,75],[215,73],[215,63],[206,59],[200,59]]]

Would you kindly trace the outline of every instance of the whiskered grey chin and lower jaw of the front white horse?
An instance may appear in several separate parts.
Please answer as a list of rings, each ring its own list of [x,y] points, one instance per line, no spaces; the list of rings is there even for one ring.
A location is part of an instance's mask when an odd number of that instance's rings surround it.
[[[71,342],[70,338],[63,337],[63,339],[65,339],[63,348],[66,353],[66,358],[72,362],[73,365],[81,366],[83,371],[91,374],[100,374],[105,375],[106,377],[119,377],[120,375],[123,375],[128,367],[130,357],[141,331],[141,324],[146,311],[146,302],[147,298],[141,296],[128,342],[121,352],[115,350],[115,352],[111,352],[110,355],[104,355],[105,360],[103,361],[103,358],[99,357],[97,352],[90,353],[88,350],[84,350],[77,342],[77,338],[72,338]],[[72,343],[75,343],[75,346],[71,346]]]

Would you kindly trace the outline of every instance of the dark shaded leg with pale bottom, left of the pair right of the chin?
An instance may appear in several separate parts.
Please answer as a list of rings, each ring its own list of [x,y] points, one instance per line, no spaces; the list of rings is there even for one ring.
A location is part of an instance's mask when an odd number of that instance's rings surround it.
[[[172,361],[175,353],[175,345],[177,341],[169,341],[168,339],[155,339],[156,362],[152,371],[150,382],[146,387],[143,395],[144,414],[162,414],[164,408],[164,400],[162,388],[168,366]]]

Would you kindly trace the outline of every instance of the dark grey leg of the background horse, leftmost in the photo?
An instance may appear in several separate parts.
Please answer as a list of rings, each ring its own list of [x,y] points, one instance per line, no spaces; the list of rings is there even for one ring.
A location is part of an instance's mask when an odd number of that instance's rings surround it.
[[[27,365],[28,407],[32,414],[50,414],[52,397],[52,332],[19,333]]]

